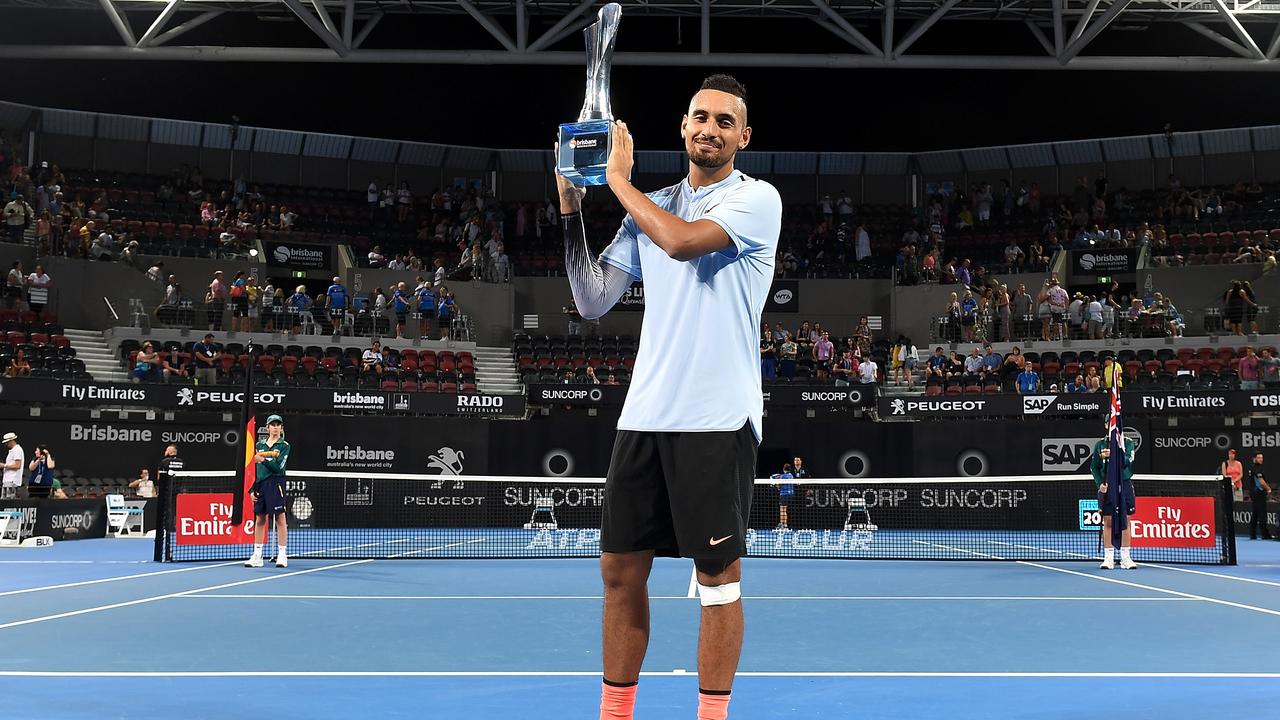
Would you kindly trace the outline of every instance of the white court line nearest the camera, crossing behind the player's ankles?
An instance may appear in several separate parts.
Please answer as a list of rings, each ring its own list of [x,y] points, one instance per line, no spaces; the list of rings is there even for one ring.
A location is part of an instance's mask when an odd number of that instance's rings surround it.
[[[645,678],[691,678],[685,670],[645,670]],[[599,678],[599,670],[0,670],[0,678]],[[914,673],[739,671],[739,678],[1126,678],[1275,679],[1280,673]]]

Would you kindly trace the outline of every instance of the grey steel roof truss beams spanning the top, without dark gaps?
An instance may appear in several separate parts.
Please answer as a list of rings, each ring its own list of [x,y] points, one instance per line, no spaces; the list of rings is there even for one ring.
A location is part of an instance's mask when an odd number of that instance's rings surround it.
[[[571,36],[594,19],[603,0],[0,0],[0,17],[20,22],[22,9],[79,10],[108,23],[119,44],[0,45],[0,58],[160,59],[314,63],[431,63],[577,65],[582,54]],[[623,3],[627,13],[682,18],[700,31],[699,51],[618,51],[618,65],[717,65],[795,68],[947,68],[1094,70],[1272,70],[1280,68],[1280,0],[648,0]],[[379,26],[406,15],[470,15],[483,33],[471,49],[443,49],[431,32],[416,35],[417,47],[388,46]],[[540,26],[530,35],[531,18]],[[244,46],[234,22],[246,18],[301,22],[311,46]],[[724,53],[713,47],[713,27],[724,18],[769,22],[812,20],[847,49],[805,51],[803,37],[785,51]],[[186,45],[187,33],[216,44]],[[969,47],[952,54],[911,50],[940,22],[1023,26],[1034,54],[991,54],[975,33]],[[1169,23],[1203,36],[1219,55],[1189,56]],[[104,26],[106,27],[106,26]],[[767,27],[767,26],[765,26]],[[211,35],[214,28],[218,32]],[[861,28],[861,29],[859,29]],[[1103,32],[1156,29],[1140,55],[1088,53]],[[438,32],[448,32],[442,28]],[[1167,36],[1167,37],[1166,37]],[[566,42],[562,42],[566,41]],[[393,44],[392,44],[393,45]],[[634,44],[623,44],[634,47]],[[425,46],[425,47],[424,47]],[[435,47],[433,47],[435,46]],[[1180,47],[1183,46],[1183,47]],[[559,47],[559,49],[553,49]]]

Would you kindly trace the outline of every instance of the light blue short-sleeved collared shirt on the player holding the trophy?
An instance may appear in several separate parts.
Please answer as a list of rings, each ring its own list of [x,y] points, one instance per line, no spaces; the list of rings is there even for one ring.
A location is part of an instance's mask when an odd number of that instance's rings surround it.
[[[733,170],[694,190],[680,184],[649,199],[677,218],[708,219],[731,245],[673,260],[631,215],[600,259],[644,281],[645,309],[620,430],[719,432],[751,423],[763,438],[760,313],[773,281],[782,199],[767,182]]]

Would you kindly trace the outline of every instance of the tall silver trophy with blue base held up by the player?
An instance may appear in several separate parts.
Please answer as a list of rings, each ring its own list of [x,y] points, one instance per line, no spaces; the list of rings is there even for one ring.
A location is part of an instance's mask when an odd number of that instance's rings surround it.
[[[622,20],[622,5],[609,3],[600,8],[596,22],[582,31],[586,41],[586,97],[576,123],[559,127],[556,169],[573,184],[604,184],[609,160],[609,128],[613,108],[609,105],[609,69],[613,45]]]

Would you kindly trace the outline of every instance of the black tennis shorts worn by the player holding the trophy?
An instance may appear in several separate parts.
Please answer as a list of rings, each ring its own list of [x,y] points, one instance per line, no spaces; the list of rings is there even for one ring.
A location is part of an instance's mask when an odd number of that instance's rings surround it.
[[[746,555],[755,450],[750,423],[730,432],[618,430],[600,550],[724,561]]]

